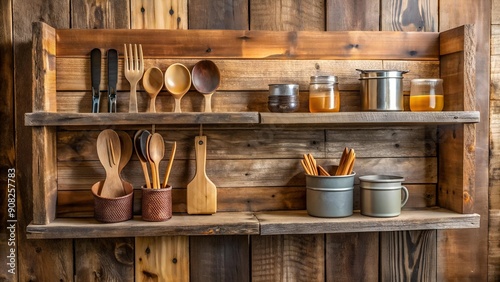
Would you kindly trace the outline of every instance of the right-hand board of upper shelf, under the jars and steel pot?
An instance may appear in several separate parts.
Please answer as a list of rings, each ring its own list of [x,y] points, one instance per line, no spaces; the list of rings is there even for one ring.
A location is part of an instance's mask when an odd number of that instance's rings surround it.
[[[478,123],[478,111],[260,113],[262,124],[458,124]]]

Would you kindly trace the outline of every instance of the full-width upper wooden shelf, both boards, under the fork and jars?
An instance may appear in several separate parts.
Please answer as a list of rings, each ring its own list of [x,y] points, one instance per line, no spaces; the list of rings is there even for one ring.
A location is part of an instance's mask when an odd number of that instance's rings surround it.
[[[478,111],[342,113],[27,113],[27,126],[145,124],[463,124],[478,123]]]

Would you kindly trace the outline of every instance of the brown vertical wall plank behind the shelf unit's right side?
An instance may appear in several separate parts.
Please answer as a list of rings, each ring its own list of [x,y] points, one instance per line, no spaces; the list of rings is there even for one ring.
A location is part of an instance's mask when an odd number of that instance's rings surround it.
[[[476,34],[476,109],[489,108],[490,92],[490,15],[492,1],[439,1],[439,30],[474,23]],[[472,4],[472,5],[471,5]],[[487,121],[489,111],[481,111]],[[438,280],[486,280],[488,231],[489,124],[476,125],[474,212],[481,215],[481,228],[465,232],[438,232]],[[474,238],[473,243],[470,238]],[[457,246],[467,246],[457,248]],[[467,259],[464,259],[467,258]]]

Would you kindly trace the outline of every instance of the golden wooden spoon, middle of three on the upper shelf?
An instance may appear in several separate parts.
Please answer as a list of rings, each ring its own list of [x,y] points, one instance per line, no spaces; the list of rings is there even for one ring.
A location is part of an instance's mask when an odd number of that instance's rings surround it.
[[[165,87],[175,100],[174,112],[181,112],[181,99],[191,88],[191,73],[180,63],[170,65],[165,71]]]

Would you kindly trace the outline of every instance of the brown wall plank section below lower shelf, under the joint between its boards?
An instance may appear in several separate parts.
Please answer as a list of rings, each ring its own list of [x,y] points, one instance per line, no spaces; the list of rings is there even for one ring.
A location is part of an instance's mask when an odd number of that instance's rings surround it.
[[[323,281],[325,235],[251,236],[252,281]]]

